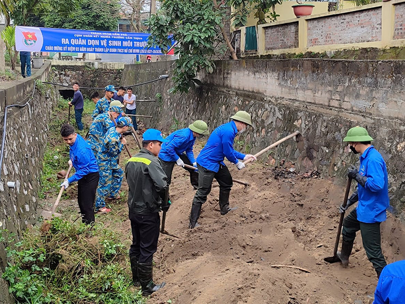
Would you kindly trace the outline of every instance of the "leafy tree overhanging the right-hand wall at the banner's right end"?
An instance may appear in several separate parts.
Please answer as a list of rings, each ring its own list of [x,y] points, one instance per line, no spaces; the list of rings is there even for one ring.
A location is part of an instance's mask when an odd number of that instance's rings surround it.
[[[179,55],[174,70],[175,87],[171,92],[188,92],[195,84],[200,85],[197,73],[215,69],[213,56],[218,53],[216,46],[225,42],[232,59],[237,59],[224,25],[233,19],[233,25],[243,26],[250,13],[255,13],[258,23],[266,23],[277,18],[275,5],[282,0],[163,0],[156,15],[148,20],[151,28],[149,46],[157,46],[164,53],[177,42],[175,53]],[[234,13],[229,16],[228,8]],[[270,10],[272,12],[270,12]],[[267,15],[266,15],[267,14]],[[220,36],[222,35],[222,38]]]

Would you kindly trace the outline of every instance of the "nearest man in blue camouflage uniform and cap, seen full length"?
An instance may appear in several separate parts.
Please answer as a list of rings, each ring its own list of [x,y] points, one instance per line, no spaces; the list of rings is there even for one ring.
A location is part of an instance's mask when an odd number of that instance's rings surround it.
[[[132,127],[131,120],[121,117],[115,128],[110,128],[105,134],[100,150],[97,154],[100,180],[96,195],[96,212],[107,213],[111,209],[105,207],[106,199],[115,199],[118,196],[124,171],[118,166],[119,154],[127,143],[123,133]]]

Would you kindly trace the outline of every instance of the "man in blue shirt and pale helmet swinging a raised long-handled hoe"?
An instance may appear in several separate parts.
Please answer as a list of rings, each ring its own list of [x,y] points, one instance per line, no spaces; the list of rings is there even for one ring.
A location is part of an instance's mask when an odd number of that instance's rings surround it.
[[[207,144],[197,157],[198,189],[195,193],[190,212],[189,228],[198,226],[197,220],[201,206],[207,201],[211,192],[214,178],[219,183],[219,207],[221,215],[235,209],[229,207],[229,194],[232,188],[232,176],[224,164],[224,158],[235,164],[238,170],[245,168],[239,160],[256,160],[255,156],[242,154],[233,149],[233,141],[237,133],[245,131],[247,126],[252,126],[250,114],[237,111],[231,117],[232,121],[216,128],[208,138]]]

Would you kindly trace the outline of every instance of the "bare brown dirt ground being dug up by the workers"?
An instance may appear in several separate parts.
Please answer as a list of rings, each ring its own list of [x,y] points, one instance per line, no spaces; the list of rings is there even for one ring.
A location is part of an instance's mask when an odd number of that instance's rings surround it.
[[[135,147],[132,138],[128,141]],[[199,143],[197,150],[201,146]],[[134,153],[138,149],[131,150]],[[124,150],[120,163],[127,159]],[[169,299],[181,304],[372,303],[377,276],[360,235],[349,268],[323,261],[333,255],[344,186],[319,179],[316,174],[306,178],[290,173],[289,166],[276,171],[260,163],[241,171],[232,164],[229,168],[234,178],[251,183],[247,188],[233,185],[230,205],[237,210],[220,215],[219,188],[214,181],[201,212],[201,226],[191,231],[187,229],[188,214],[195,192],[187,172],[177,166],[174,169],[170,191],[173,205],[166,230],[181,239],[160,235],[154,279],[167,285],[148,303],[166,303]],[[62,201],[59,209],[70,218],[77,217],[78,211],[75,187],[69,187],[71,198]],[[110,204],[111,213],[96,215],[96,221],[121,233],[129,244],[127,189],[124,180],[122,199]],[[403,259],[402,225],[389,215],[382,231],[387,262]],[[308,272],[272,265],[294,265]]]

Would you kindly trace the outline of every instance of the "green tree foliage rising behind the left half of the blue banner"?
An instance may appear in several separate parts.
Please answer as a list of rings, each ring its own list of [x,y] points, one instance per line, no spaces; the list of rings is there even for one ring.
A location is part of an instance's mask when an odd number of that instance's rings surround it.
[[[81,0],[73,14],[48,14],[41,20],[46,27],[115,31],[119,9],[118,0]]]

